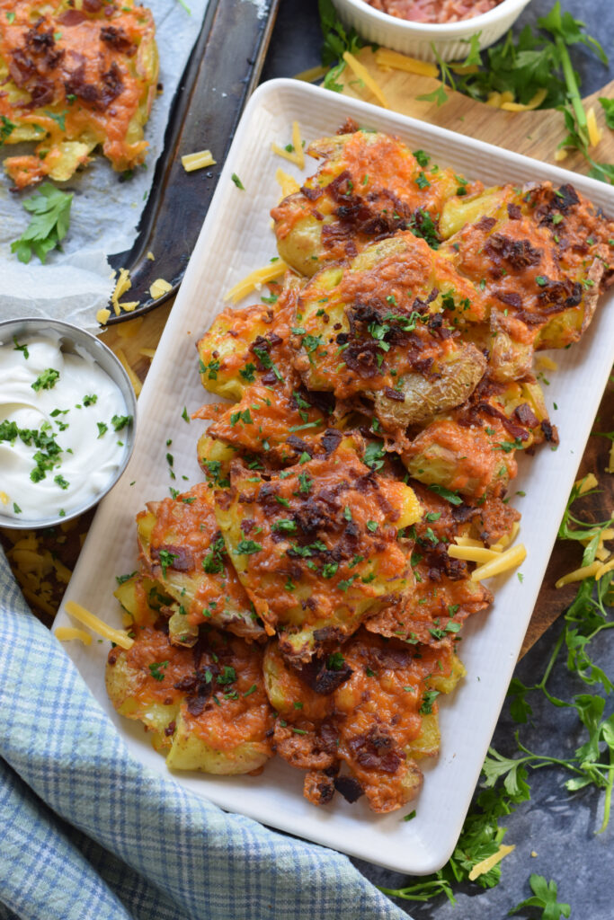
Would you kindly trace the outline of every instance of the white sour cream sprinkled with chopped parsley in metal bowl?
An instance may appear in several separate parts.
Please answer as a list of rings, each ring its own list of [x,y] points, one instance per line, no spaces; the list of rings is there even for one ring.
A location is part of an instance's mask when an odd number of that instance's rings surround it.
[[[64,517],[104,491],[127,451],[122,393],[51,333],[0,344],[0,512]]]

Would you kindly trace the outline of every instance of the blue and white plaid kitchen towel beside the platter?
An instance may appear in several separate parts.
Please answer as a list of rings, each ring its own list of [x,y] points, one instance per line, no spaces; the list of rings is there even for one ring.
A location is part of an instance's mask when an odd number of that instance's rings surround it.
[[[0,918],[407,920],[347,857],[128,753],[0,549]]]

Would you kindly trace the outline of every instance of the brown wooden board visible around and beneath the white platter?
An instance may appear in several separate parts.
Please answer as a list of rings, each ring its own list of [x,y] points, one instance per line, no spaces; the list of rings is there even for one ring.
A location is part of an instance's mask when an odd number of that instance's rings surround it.
[[[479,138],[490,144],[504,146],[517,153],[534,156],[547,163],[555,162],[554,152],[565,135],[560,112],[554,110],[506,112],[502,109],[492,109],[481,102],[453,92],[450,93],[446,104],[438,108],[434,103],[420,101],[416,98],[432,92],[438,86],[437,80],[400,71],[382,72],[377,68],[373,53],[369,49],[361,52],[361,61],[377,76],[377,82],[384,90],[390,109]],[[360,86],[347,69],[344,79],[344,92],[348,96],[374,101],[370,92]],[[614,98],[614,81],[594,93],[593,96],[587,97],[585,102],[587,105],[595,104],[596,109],[600,109],[597,104],[597,98],[600,96]],[[603,124],[601,115],[598,115],[598,119],[599,123]],[[614,163],[614,132],[606,129],[594,154],[598,161]],[[585,159],[579,154],[568,155],[560,165],[579,172],[587,171]],[[123,352],[141,380],[145,380],[150,364],[150,359],[142,354],[142,350],[156,348],[171,308],[172,303],[161,305],[146,316],[137,317],[100,333],[110,349],[115,352],[118,350]],[[613,419],[614,385],[610,382],[597,413],[597,430],[611,430],[614,427]],[[607,439],[591,436],[579,467],[578,476],[593,472],[600,486],[598,493],[586,496],[581,502],[578,502],[577,510],[587,521],[602,521],[608,519],[614,512],[614,476],[605,472],[605,467],[608,466],[609,445]],[[82,534],[87,530],[90,520],[90,517],[82,519],[73,530],[69,530],[69,534],[73,533],[74,536],[75,530],[77,534]],[[13,536],[15,533],[12,532]],[[50,535],[41,531],[38,535],[41,546],[51,546],[53,552],[59,552],[64,564],[70,569],[73,568],[78,556],[78,540],[69,536],[62,546],[58,546],[54,534]],[[6,548],[10,549],[11,532],[0,534],[0,540]],[[554,583],[565,572],[579,565],[578,546],[571,545],[570,542],[557,543],[539,592],[538,603],[527,630],[521,656],[543,635],[573,600],[577,585],[572,584],[558,591]],[[50,577],[53,578],[53,573]],[[53,606],[59,603],[64,587],[63,583],[54,585],[53,601],[55,603]],[[32,603],[31,597],[29,600]],[[49,611],[39,608],[37,612],[46,622],[51,622]]]

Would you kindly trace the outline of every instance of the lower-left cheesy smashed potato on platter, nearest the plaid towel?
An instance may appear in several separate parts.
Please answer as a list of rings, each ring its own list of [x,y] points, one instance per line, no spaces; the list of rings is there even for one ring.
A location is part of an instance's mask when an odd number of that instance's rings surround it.
[[[168,750],[170,769],[237,775],[272,756],[262,652],[241,638],[203,627],[195,652],[140,627],[132,649],[110,651],[106,684],[120,715],[142,721],[156,750]]]

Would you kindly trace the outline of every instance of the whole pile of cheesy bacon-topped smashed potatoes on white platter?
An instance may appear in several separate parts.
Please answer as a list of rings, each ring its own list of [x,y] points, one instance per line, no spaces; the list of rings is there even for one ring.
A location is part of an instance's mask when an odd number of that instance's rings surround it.
[[[587,328],[614,225],[571,186],[484,190],[351,123],[307,153],[272,210],[291,270],[198,342],[226,401],[192,416],[203,482],[137,517],[107,684],[171,768],[275,753],[314,805],[388,812],[446,744],[517,454],[558,443],[535,351]]]

